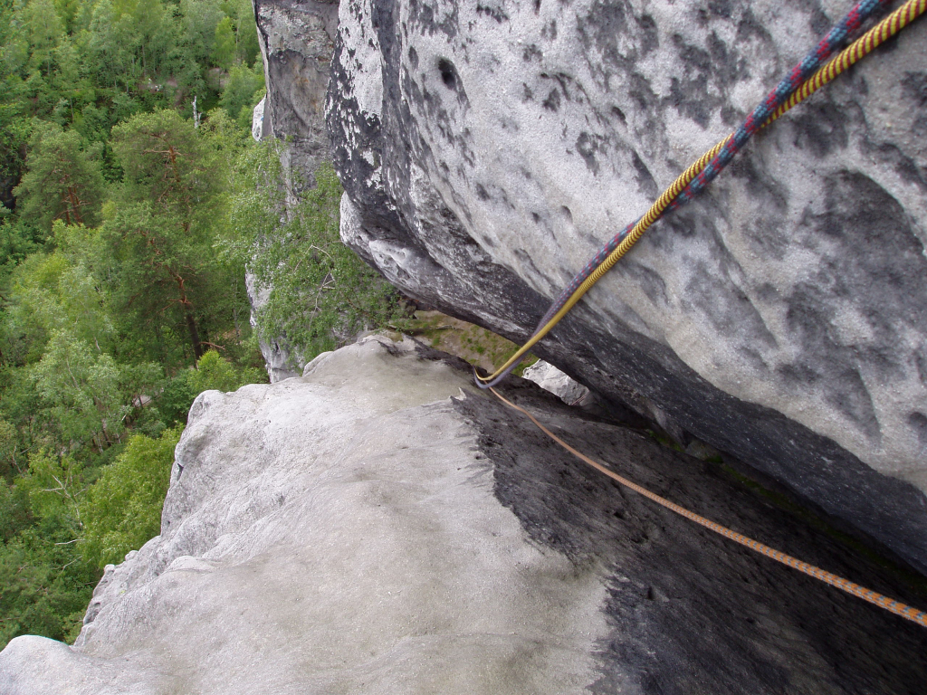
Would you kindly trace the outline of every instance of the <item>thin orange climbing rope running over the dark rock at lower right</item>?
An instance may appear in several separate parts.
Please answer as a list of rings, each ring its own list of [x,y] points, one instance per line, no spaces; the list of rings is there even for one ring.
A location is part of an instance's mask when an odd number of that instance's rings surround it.
[[[895,613],[896,615],[900,615],[903,618],[907,618],[908,620],[914,623],[917,623],[918,625],[922,625],[923,627],[927,627],[927,613],[923,611],[919,611],[916,608],[911,608],[910,606],[900,601],[889,599],[887,596],[883,596],[882,594],[876,591],[873,591],[870,588],[861,587],[858,584],[855,584],[854,582],[849,581],[848,579],[844,579],[842,576],[833,575],[832,573],[827,572],[826,570],[822,570],[819,567],[815,567],[813,564],[808,564],[807,562],[802,562],[801,560],[798,560],[797,558],[794,558],[791,555],[786,555],[784,552],[780,552],[779,550],[769,548],[768,545],[764,545],[763,543],[760,543],[759,541],[754,540],[753,538],[743,536],[743,534],[739,534],[736,531],[731,531],[730,528],[726,526],[722,526],[721,524],[716,524],[710,519],[706,519],[704,516],[700,516],[699,514],[696,514],[695,512],[690,512],[685,507],[680,507],[675,502],[671,502],[666,498],[660,497],[654,492],[651,492],[650,490],[648,490],[646,487],[641,487],[637,483],[632,483],[630,480],[628,480],[628,478],[625,478],[619,474],[616,474],[611,469],[603,466],[602,463],[599,463],[598,461],[594,461],[593,459],[590,459],[588,456],[578,451],[577,449],[573,449],[573,447],[567,444],[563,439],[554,435],[549,429],[547,429],[547,427],[539,423],[538,419],[535,418],[534,415],[532,415],[530,412],[526,411],[524,408],[516,406],[512,401],[506,398],[503,398],[502,395],[500,395],[500,393],[496,391],[495,388],[490,387],[489,390],[492,391],[492,393],[496,395],[496,398],[499,398],[500,400],[502,400],[502,402],[505,403],[505,405],[509,406],[510,408],[514,408],[514,410],[527,415],[527,417],[531,420],[531,422],[535,423],[540,428],[541,432],[551,437],[553,441],[555,441],[561,447],[563,447],[564,449],[569,451],[571,454],[576,456],[580,461],[584,461],[588,463],[596,471],[599,471],[600,473],[607,475],[613,480],[616,480],[621,485],[629,487],[635,492],[640,493],[645,498],[652,499],[654,500],[654,502],[656,502],[660,506],[666,507],[668,510],[672,512],[676,512],[680,516],[684,516],[686,519],[689,519],[695,522],[696,524],[704,526],[705,528],[711,531],[714,531],[715,533],[720,534],[723,537],[730,538],[735,543],[740,543],[742,546],[745,546],[746,548],[749,548],[750,550],[756,550],[756,552],[762,555],[766,555],[768,558],[772,558],[776,562],[781,562],[782,564],[788,565],[789,567],[793,567],[799,572],[802,572],[808,576],[813,576],[815,579],[819,579],[825,584],[830,584],[832,587],[839,588],[848,594],[852,594],[853,596],[856,596],[859,599],[869,601],[870,603],[876,606],[879,606],[880,608],[883,608],[886,611]]]

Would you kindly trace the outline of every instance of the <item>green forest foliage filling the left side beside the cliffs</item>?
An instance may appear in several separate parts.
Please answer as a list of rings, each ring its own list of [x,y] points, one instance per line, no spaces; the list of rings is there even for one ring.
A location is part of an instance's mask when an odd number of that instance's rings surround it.
[[[251,141],[263,87],[250,0],[0,0],[0,647],[76,636],[194,398],[266,380],[248,265],[306,357],[396,318],[331,168]]]

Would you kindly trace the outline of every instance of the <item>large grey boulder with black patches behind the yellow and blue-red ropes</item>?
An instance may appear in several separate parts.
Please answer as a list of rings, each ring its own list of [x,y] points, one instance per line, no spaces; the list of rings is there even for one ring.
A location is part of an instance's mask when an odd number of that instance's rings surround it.
[[[524,341],[849,3],[345,0],[342,236]],[[755,138],[535,352],[927,572],[927,20]]]

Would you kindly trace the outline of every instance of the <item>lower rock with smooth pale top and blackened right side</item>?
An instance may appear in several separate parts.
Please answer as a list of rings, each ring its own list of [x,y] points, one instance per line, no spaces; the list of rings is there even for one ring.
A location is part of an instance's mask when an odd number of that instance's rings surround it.
[[[912,601],[720,469],[507,398],[723,524]],[[161,534],[73,648],[16,638],[4,695],[922,692],[927,630],[707,534],[552,447],[443,353],[382,337],[209,391]]]

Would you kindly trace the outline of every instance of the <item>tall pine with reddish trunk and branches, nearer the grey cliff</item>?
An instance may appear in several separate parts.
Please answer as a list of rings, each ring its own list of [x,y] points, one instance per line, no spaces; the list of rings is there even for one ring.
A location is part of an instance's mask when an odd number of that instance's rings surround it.
[[[198,359],[209,347],[208,297],[225,279],[212,252],[221,162],[175,111],[139,114],[113,129],[124,174],[104,224],[121,310],[138,321],[183,325]]]

